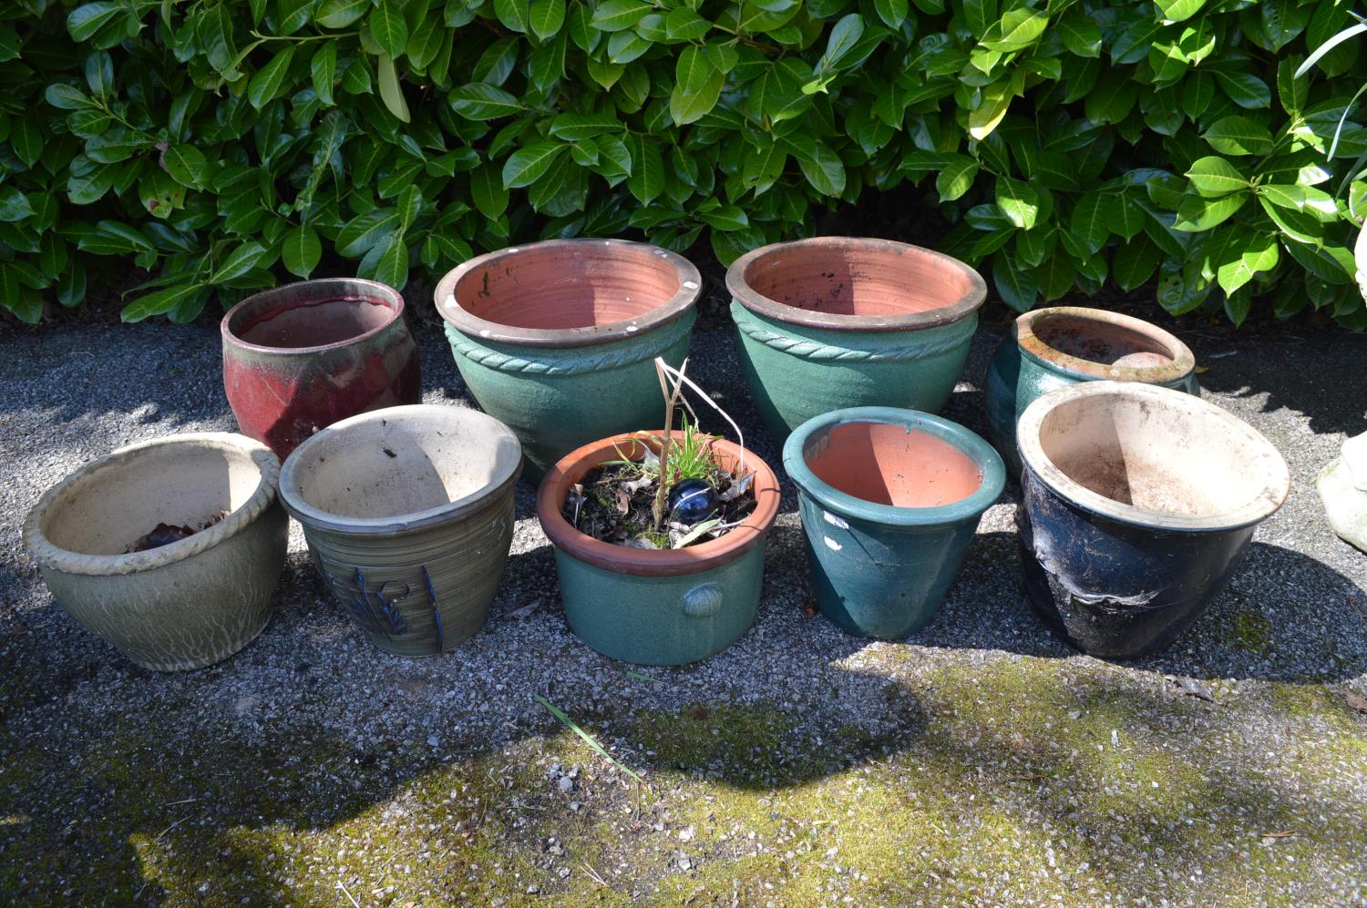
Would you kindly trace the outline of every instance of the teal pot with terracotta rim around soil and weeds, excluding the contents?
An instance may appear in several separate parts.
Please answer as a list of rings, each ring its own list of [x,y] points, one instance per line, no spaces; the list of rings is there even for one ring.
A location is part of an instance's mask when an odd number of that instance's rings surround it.
[[[604,462],[638,459],[644,444],[627,433],[566,455],[541,482],[536,513],[555,545],[570,629],[614,659],[684,665],[720,653],[755,623],[764,541],[778,516],[778,479],[744,452],[745,472],[755,475],[755,511],[725,535],[684,549],[630,549],[570,526],[560,515],[570,486]],[[723,468],[733,475],[740,470],[740,445],[718,440],[714,451]]]

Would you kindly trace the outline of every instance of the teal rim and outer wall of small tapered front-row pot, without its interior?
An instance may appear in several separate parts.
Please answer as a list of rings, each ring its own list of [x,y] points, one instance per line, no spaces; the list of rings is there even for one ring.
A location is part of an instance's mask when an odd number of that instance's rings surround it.
[[[980,474],[968,497],[936,507],[895,507],[846,494],[809,466],[831,431],[882,423],[921,431],[965,455]],[[798,487],[802,530],[816,602],[837,627],[901,639],[925,627],[945,601],[983,512],[1006,482],[992,446],[962,426],[931,414],[856,407],[798,426],[783,445],[783,468]]]

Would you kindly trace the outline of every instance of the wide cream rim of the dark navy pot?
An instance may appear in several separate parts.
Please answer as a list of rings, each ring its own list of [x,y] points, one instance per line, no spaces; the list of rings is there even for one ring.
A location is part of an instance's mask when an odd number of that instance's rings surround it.
[[[1249,472],[1262,474],[1263,489],[1258,494],[1252,496],[1249,501],[1240,508],[1223,513],[1200,516],[1174,515],[1165,513],[1162,511],[1152,511],[1150,508],[1139,508],[1092,492],[1087,486],[1072,479],[1068,474],[1059,470],[1053,460],[1048,459],[1048,455],[1044,453],[1043,445],[1039,442],[1039,431],[1044,418],[1048,416],[1055,407],[1080,397],[1096,397],[1106,395],[1148,400],[1150,403],[1165,407],[1172,406],[1178,410],[1184,410],[1187,414],[1199,412],[1218,419],[1230,431],[1245,438],[1251,446],[1258,451],[1256,460],[1249,464]],[[1035,401],[1025,408],[1025,412],[1021,414],[1020,422],[1016,427],[1016,441],[1017,448],[1020,449],[1021,460],[1039,478],[1039,481],[1048,486],[1055,494],[1091,513],[1140,527],[1182,530],[1192,533],[1239,530],[1271,516],[1278,508],[1282,507],[1286,501],[1286,496],[1290,493],[1290,471],[1286,468],[1286,460],[1282,457],[1281,452],[1277,451],[1273,442],[1270,442],[1260,431],[1223,407],[1218,407],[1193,395],[1188,395],[1173,388],[1163,388],[1161,385],[1144,385],[1128,381],[1087,381],[1079,385],[1058,388],[1057,391],[1051,391],[1047,395],[1042,395],[1035,399]]]

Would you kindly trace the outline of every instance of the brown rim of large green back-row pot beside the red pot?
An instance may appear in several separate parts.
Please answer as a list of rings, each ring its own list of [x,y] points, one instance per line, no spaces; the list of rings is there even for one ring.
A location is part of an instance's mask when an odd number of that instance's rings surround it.
[[[532,251],[580,250],[586,253],[596,247],[626,250],[632,255],[638,255],[641,264],[651,259],[666,262],[674,269],[674,274],[678,277],[678,291],[636,318],[604,322],[601,325],[584,325],[580,328],[521,328],[488,321],[468,310],[457,296],[457,289],[461,288],[463,281],[473,279],[473,273],[477,269],[496,268],[500,264],[511,266],[514,259]],[[641,335],[666,325],[692,309],[701,295],[703,274],[693,262],[678,253],[634,240],[577,238],[510,246],[509,249],[476,255],[447,272],[437,283],[432,298],[436,303],[436,311],[448,325],[480,340],[519,344],[524,347],[589,347],[592,344],[622,340],[623,337]]]

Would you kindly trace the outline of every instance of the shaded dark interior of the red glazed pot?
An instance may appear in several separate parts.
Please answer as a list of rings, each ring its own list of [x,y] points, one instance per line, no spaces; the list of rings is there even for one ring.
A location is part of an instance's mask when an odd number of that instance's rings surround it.
[[[312,299],[283,288],[245,306],[228,324],[232,335],[258,347],[298,350],[339,344],[394,321],[398,304],[361,294]]]

